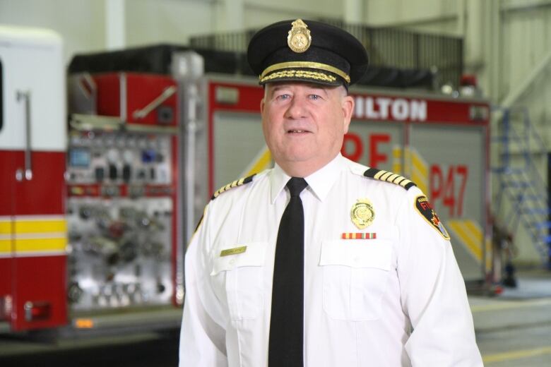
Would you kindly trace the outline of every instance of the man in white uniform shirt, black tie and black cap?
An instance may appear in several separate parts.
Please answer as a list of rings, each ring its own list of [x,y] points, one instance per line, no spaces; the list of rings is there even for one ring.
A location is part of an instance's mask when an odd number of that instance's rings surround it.
[[[186,254],[180,366],[482,366],[425,195],[340,155],[362,44],[289,20],[260,30],[248,58],[275,167],[206,207]]]

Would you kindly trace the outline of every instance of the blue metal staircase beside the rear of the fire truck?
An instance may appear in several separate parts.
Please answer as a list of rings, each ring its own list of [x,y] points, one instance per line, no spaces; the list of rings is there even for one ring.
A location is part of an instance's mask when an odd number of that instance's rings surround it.
[[[526,108],[496,112],[502,118],[496,128],[498,135],[492,138],[499,151],[499,165],[492,168],[499,181],[494,215],[510,233],[522,225],[551,269],[551,211],[547,184],[540,174],[547,169],[545,143]]]

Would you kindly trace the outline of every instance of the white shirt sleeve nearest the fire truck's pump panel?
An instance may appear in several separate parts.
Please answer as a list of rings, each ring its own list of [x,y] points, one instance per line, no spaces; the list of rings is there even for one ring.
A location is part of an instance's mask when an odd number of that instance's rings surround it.
[[[184,314],[179,366],[227,366],[225,329],[216,322],[219,308],[210,282],[208,207],[186,251]]]

